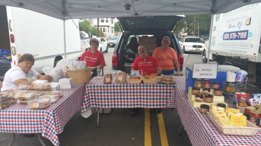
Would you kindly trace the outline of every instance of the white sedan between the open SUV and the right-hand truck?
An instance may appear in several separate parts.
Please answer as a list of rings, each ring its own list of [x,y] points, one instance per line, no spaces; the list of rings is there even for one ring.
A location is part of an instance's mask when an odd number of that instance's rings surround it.
[[[186,51],[203,52],[206,48],[204,41],[202,41],[199,37],[183,37],[179,43],[183,53]]]

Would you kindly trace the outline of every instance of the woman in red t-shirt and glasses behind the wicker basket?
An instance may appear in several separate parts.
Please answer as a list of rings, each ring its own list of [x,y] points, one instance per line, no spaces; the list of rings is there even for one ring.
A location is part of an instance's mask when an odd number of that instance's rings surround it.
[[[86,61],[86,66],[94,67],[92,70],[93,72],[96,72],[98,66],[100,69],[103,69],[103,67],[106,65],[104,56],[101,51],[98,50],[99,47],[99,41],[96,38],[90,39],[90,50],[86,50],[79,61]],[[96,73],[92,73],[92,76],[96,76]]]

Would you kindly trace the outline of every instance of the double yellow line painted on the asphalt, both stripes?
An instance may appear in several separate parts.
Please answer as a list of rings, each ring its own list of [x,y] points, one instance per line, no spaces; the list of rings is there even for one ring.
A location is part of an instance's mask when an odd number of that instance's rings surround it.
[[[161,135],[161,145],[168,146],[168,138],[165,129],[164,119],[162,113],[158,113],[158,122],[159,122],[159,129]],[[150,108],[145,108],[145,128],[144,128],[144,145],[149,146],[152,145],[152,138],[151,138],[151,117],[150,117]]]

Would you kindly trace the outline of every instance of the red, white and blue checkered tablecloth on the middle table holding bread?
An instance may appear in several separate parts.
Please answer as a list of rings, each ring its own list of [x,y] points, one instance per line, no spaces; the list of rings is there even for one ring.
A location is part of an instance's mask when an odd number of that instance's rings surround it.
[[[112,81],[114,82],[114,81]],[[93,77],[87,84],[81,112],[99,108],[176,107],[176,84],[104,84]]]

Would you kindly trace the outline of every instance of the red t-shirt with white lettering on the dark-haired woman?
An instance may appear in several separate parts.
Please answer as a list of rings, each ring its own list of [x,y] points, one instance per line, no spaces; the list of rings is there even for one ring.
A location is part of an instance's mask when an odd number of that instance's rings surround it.
[[[106,65],[104,56],[101,51],[97,50],[95,53],[92,53],[91,50],[86,50],[82,53],[82,56],[79,61],[86,61],[86,66],[94,67],[97,65]]]

